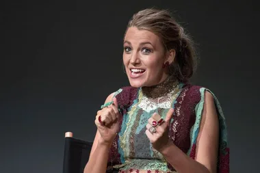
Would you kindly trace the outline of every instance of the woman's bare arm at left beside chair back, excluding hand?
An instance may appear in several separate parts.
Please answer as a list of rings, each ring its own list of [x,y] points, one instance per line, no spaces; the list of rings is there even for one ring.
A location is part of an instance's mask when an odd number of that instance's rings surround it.
[[[113,95],[114,93],[110,94],[107,97],[105,103],[112,101]],[[103,139],[101,138],[101,134],[99,133],[99,130],[97,130],[92,145],[92,149],[90,152],[90,159],[86,164],[84,173],[87,172],[105,173],[107,169],[109,149],[111,148],[111,146],[112,143],[107,144],[107,142],[104,142]]]

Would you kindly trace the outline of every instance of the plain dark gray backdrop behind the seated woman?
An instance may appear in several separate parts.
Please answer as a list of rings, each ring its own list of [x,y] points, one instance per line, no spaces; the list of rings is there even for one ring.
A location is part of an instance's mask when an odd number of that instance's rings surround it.
[[[169,8],[194,37],[193,81],[218,96],[231,172],[259,169],[257,1],[5,1],[1,5],[0,172],[62,172],[64,133],[94,139],[94,117],[129,85],[122,37],[131,15]]]

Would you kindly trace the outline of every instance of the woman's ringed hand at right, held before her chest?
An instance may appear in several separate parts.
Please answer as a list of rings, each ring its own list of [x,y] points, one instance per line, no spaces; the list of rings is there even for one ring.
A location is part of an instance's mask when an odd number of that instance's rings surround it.
[[[168,131],[170,127],[170,119],[172,118],[172,114],[174,109],[169,109],[168,113],[166,114],[165,120],[161,124],[158,124],[161,116],[159,114],[153,114],[151,118],[148,119],[148,124],[146,124],[146,135],[150,140],[153,148],[155,150],[161,152],[164,150],[169,144],[172,144],[168,137]],[[151,129],[152,128],[152,129]],[[153,128],[155,131],[153,132]]]

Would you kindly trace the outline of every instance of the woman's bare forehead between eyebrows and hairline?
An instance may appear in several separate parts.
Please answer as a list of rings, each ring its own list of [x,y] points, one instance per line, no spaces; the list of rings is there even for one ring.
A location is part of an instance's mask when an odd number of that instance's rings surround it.
[[[125,34],[125,41],[131,44],[139,44],[141,42],[151,42],[156,45],[160,43],[159,36],[146,29],[138,29],[137,27],[129,27]]]

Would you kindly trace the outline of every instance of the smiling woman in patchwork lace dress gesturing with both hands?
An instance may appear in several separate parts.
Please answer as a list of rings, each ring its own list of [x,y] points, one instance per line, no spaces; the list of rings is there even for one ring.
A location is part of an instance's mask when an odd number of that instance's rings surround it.
[[[194,46],[168,11],[133,15],[123,62],[131,86],[110,94],[97,112],[84,172],[229,172],[220,104],[188,82]]]

